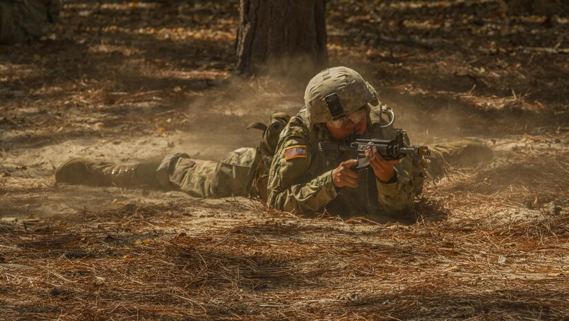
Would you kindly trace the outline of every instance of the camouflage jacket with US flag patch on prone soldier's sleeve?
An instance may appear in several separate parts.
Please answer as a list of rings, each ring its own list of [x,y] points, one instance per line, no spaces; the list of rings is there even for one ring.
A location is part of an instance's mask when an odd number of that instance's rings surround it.
[[[376,110],[368,115],[368,126],[363,138],[392,139],[392,127],[381,128],[382,120]],[[318,143],[332,140],[321,125],[310,124],[306,108],[292,117],[281,133],[268,177],[268,205],[292,213],[328,211],[335,215],[388,215],[415,213],[414,198],[421,193],[423,159],[411,155],[395,166],[397,181],[379,182],[373,171],[362,173],[358,188],[336,188],[332,170],[340,162],[354,159],[354,155],[330,155],[318,150]],[[407,138],[408,144],[408,138]],[[297,154],[290,148],[301,146]],[[302,149],[306,146],[305,149]],[[289,151],[288,151],[289,150]],[[288,154],[287,154],[288,153]]]

